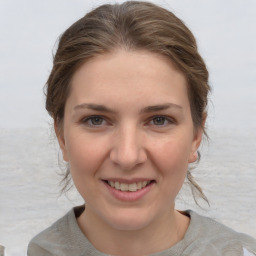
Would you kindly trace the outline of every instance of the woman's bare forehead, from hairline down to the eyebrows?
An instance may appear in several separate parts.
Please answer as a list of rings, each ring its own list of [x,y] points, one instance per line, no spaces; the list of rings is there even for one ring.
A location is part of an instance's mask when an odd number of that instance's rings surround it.
[[[70,97],[77,104],[188,103],[183,73],[167,57],[148,51],[119,50],[90,59],[75,72]]]

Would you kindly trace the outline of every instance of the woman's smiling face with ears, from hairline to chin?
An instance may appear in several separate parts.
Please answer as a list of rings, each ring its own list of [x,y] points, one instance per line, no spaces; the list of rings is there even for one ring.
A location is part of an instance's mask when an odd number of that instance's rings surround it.
[[[58,139],[87,215],[136,230],[174,209],[201,136],[184,75],[163,56],[119,50],[74,74]]]

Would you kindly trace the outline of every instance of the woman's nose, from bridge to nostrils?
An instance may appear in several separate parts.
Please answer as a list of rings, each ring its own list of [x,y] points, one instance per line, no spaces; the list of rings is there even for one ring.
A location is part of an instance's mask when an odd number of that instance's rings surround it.
[[[126,125],[115,134],[110,159],[119,165],[121,170],[132,170],[147,160],[143,136],[136,127]]]

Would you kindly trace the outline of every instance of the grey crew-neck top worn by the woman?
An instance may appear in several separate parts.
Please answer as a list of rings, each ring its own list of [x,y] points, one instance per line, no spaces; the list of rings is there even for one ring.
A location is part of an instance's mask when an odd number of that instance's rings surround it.
[[[28,256],[107,256],[94,248],[80,230],[76,218],[84,206],[75,207],[39,233],[28,246]],[[171,248],[151,256],[256,255],[256,240],[188,210],[190,224],[184,238]],[[248,253],[248,254],[247,254]]]

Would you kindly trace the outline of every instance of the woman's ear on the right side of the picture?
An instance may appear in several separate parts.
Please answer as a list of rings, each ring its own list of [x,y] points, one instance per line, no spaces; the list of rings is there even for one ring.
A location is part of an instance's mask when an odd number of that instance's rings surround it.
[[[192,147],[191,147],[191,152],[189,155],[188,162],[193,163],[198,159],[198,148],[201,144],[202,138],[203,138],[203,133],[204,133],[204,127],[205,127],[205,121],[206,121],[207,113],[203,113],[203,120],[202,120],[202,125],[198,127],[195,131],[193,142],[192,142]]]

